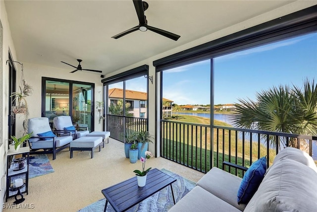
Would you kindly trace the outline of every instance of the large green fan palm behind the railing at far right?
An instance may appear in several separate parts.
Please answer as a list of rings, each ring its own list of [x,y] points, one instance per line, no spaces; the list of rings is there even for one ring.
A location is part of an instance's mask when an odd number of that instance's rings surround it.
[[[256,99],[238,99],[236,114],[232,116],[236,127],[317,135],[317,84],[314,80],[306,79],[302,89],[295,85],[274,86],[257,92]],[[272,145],[279,145],[275,137],[269,139]],[[291,139],[290,145],[296,147],[296,141]]]

